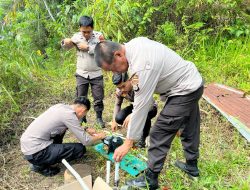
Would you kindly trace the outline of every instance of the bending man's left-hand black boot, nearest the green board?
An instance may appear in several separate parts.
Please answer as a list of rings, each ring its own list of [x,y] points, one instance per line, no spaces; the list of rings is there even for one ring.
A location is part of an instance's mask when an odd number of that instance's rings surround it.
[[[152,172],[149,168],[145,173],[137,178],[126,181],[126,185],[129,187],[147,188],[150,190],[157,189],[159,173]]]

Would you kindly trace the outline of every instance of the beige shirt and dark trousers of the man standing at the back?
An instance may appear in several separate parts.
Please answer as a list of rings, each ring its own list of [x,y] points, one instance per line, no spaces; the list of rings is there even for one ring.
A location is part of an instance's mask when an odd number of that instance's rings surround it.
[[[77,32],[71,38],[77,50],[77,64],[76,64],[76,95],[88,95],[89,86],[94,98],[94,110],[102,112],[104,109],[104,84],[101,68],[97,66],[94,60],[94,49],[96,44],[100,41],[99,37],[102,33],[93,31],[89,40],[86,40],[81,32]],[[86,43],[89,46],[88,51],[82,51],[77,48],[80,43]],[[65,45],[63,47],[67,48]]]

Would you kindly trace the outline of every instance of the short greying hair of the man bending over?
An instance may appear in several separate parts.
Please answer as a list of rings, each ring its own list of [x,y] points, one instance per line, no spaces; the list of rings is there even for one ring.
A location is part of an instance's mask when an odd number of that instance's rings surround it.
[[[95,47],[95,62],[98,67],[102,66],[102,62],[105,61],[109,65],[112,64],[114,59],[114,52],[122,48],[121,44],[105,40],[99,42]]]

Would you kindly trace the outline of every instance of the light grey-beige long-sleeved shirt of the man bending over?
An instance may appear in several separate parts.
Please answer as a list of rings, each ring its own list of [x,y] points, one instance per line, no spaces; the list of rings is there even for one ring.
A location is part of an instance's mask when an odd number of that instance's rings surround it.
[[[167,97],[186,95],[203,85],[195,65],[185,61],[163,44],[139,37],[125,44],[130,75],[138,77],[134,84],[134,109],[128,124],[127,138],[141,137],[153,94]]]

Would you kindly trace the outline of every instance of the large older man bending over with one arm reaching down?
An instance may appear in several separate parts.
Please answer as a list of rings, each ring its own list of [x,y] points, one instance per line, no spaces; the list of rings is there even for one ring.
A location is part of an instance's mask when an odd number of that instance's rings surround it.
[[[124,45],[101,42],[95,48],[95,59],[106,71],[124,73],[129,70],[135,91],[127,138],[115,150],[116,161],[121,161],[134,141],[141,137],[153,94],[160,94],[166,102],[150,131],[148,169],[145,175],[127,181],[127,185],[146,187],[148,183],[150,189],[158,188],[158,175],[179,129],[183,130],[181,141],[186,163],[177,161],[176,166],[190,176],[199,176],[198,101],[203,93],[203,80],[195,65],[165,45],[144,37],[135,38]]]

